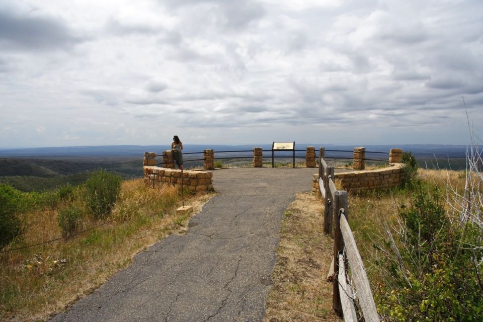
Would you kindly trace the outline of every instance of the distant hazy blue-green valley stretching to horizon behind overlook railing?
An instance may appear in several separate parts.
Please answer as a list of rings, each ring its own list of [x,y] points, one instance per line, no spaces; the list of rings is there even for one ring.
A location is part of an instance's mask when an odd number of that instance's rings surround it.
[[[193,145],[185,144],[184,153],[202,152],[204,149],[214,149],[215,157],[251,157],[254,146],[264,150],[264,159],[271,158],[272,144],[258,145]],[[306,146],[325,146],[328,159],[343,158],[350,162],[352,150],[356,146],[328,145],[313,143],[296,143],[297,158],[303,158]],[[460,170],[466,164],[466,146],[464,145],[366,145],[366,151],[389,152],[390,148],[398,147],[412,151],[418,159],[420,167]],[[84,182],[90,173],[96,169],[116,172],[123,178],[142,177],[142,158],[144,152],[161,154],[169,149],[169,145],[111,145],[111,146],[74,146],[74,147],[39,147],[0,149],[0,182],[10,184],[23,191],[41,191],[53,189],[61,185],[77,185]],[[240,151],[225,152],[216,151]],[[286,155],[290,158],[293,152],[276,152],[276,155]],[[203,158],[203,154],[185,154],[189,166],[201,166],[202,161],[189,162],[190,159]],[[366,153],[366,158],[387,160],[387,155]],[[159,158],[158,162],[162,160]],[[249,162],[249,159],[247,159]],[[223,159],[225,164],[234,159]]]

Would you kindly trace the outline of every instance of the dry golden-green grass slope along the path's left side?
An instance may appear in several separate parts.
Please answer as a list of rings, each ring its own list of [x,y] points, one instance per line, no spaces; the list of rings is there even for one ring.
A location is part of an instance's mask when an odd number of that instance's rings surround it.
[[[185,204],[195,214],[211,196]],[[146,188],[140,179],[125,181],[110,217],[115,220],[68,239],[0,254],[0,319],[45,320],[89,294],[142,249],[170,233],[183,233],[189,218],[177,216],[180,203],[174,188],[160,191]],[[61,235],[57,210],[27,214],[24,222],[26,232],[11,249]],[[81,229],[99,223],[86,217]]]

